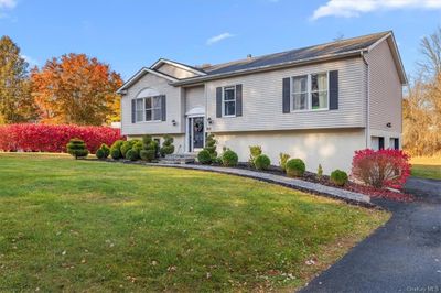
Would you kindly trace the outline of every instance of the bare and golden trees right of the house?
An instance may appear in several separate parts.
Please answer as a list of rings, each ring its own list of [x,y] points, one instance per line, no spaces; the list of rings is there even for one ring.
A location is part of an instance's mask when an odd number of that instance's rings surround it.
[[[422,37],[422,59],[404,99],[404,148],[412,155],[441,152],[441,26]]]

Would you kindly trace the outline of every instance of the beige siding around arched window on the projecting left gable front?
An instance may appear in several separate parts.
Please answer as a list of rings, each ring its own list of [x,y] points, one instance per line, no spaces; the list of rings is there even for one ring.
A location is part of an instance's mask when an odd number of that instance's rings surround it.
[[[144,88],[152,88],[166,96],[166,121],[131,122],[131,100]],[[181,88],[170,86],[168,80],[153,74],[146,74],[136,84],[128,88],[128,94],[122,96],[121,131],[123,135],[183,133]],[[172,120],[178,122],[172,124]]]

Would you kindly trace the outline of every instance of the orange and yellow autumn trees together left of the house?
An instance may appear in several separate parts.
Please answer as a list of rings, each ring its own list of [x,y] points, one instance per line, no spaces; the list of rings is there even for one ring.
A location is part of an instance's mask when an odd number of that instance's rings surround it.
[[[108,64],[85,54],[29,68],[19,46],[0,39],[0,124],[40,122],[100,126],[120,120],[122,85]]]

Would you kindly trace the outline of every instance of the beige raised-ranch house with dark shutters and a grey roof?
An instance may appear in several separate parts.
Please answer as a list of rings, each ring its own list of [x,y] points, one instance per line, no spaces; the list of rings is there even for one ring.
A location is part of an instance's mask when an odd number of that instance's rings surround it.
[[[178,153],[204,148],[249,158],[261,145],[306,170],[351,170],[355,150],[401,145],[407,77],[391,31],[205,66],[161,58],[118,90],[128,138],[174,138]]]

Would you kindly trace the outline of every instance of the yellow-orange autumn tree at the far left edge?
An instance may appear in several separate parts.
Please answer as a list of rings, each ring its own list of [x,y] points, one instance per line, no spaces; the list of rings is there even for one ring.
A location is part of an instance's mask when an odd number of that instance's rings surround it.
[[[35,118],[30,93],[28,63],[9,36],[0,39],[0,123],[25,122]]]

